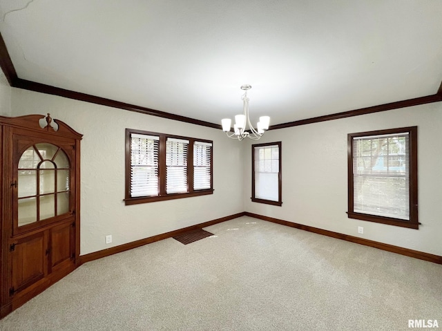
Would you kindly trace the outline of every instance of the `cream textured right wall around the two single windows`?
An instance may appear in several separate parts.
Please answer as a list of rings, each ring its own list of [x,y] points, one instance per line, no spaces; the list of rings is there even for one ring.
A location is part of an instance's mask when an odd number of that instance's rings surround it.
[[[418,126],[419,230],[347,218],[347,133]],[[246,211],[442,255],[442,102],[269,131],[282,141],[282,207],[251,202],[251,143],[244,151]],[[358,226],[364,234],[358,234]]]

